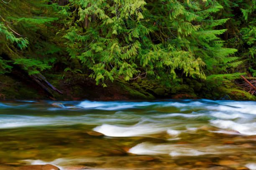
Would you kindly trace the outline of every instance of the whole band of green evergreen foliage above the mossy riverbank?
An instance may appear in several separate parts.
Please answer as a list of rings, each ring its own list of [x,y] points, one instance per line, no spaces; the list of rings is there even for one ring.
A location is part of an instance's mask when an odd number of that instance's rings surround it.
[[[2,74],[17,64],[28,74],[88,74],[102,86],[190,77],[209,89],[256,76],[256,0],[16,0],[0,9]]]

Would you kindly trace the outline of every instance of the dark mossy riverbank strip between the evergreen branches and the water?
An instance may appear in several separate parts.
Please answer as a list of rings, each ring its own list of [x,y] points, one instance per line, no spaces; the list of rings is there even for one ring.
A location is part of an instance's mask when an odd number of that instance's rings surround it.
[[[128,99],[212,99],[256,101],[243,91],[235,81],[222,83],[199,81],[184,78],[179,83],[161,84],[150,79],[136,79],[114,82],[106,81],[107,87],[96,85],[95,81],[84,74],[45,74],[46,79],[59,89],[45,91],[30,77],[22,74],[0,75],[0,99],[51,99],[51,100],[128,100]],[[242,80],[239,80],[242,81]]]

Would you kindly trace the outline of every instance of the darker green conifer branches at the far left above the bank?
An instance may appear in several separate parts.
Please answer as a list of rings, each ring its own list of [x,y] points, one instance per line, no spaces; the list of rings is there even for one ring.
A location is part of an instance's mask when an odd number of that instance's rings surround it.
[[[60,52],[60,47],[52,42],[45,42],[46,37],[52,34],[46,28],[58,20],[46,14],[50,9],[54,13],[54,8],[43,4],[49,2],[0,2],[0,73],[10,71],[13,67],[10,64],[18,64],[28,74],[35,74],[51,68],[49,63],[56,61],[54,54]],[[51,57],[48,57],[49,54]],[[8,59],[1,58],[1,55],[8,56]]]

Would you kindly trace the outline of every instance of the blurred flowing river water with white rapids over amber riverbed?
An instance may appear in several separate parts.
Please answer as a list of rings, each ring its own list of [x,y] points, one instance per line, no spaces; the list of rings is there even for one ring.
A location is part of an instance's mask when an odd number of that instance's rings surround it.
[[[0,170],[46,163],[61,170],[256,170],[256,102],[1,102]]]

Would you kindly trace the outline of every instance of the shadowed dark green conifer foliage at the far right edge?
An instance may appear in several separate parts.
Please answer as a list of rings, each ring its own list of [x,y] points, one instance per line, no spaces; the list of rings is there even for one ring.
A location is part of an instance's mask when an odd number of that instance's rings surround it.
[[[219,0],[219,3],[224,9],[218,17],[230,18],[224,25],[227,46],[237,48],[239,61],[243,61],[239,71],[256,76],[256,0]]]

